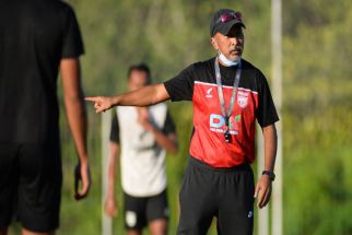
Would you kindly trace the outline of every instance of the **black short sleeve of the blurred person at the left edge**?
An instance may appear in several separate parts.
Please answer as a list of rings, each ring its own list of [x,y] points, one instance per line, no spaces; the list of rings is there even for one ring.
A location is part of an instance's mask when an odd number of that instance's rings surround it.
[[[82,35],[75,14],[71,8],[64,15],[61,58],[77,58],[84,52]]]

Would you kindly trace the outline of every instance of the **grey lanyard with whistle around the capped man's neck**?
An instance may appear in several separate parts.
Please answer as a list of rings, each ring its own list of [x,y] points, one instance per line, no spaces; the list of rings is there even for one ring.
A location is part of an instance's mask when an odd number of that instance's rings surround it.
[[[231,94],[231,99],[230,99],[230,106],[228,106],[228,109],[227,109],[227,114],[226,114],[224,94],[223,94],[223,91],[222,91],[221,73],[220,73],[219,59],[218,59],[218,57],[215,59],[214,67],[215,67],[215,75],[216,75],[216,86],[218,86],[219,102],[220,102],[222,115],[225,118],[226,132],[228,134],[228,119],[230,119],[231,113],[232,113],[232,110],[234,108],[234,104],[235,104],[236,96],[237,96],[236,93],[237,93],[237,89],[238,89],[238,84],[239,84],[239,79],[240,79],[242,62],[240,62],[240,59],[239,59],[238,60],[238,68],[237,68],[236,74],[235,74],[234,86],[233,86],[232,94]],[[226,136],[226,133],[225,133],[225,136]],[[226,142],[228,142],[228,141],[226,140]]]

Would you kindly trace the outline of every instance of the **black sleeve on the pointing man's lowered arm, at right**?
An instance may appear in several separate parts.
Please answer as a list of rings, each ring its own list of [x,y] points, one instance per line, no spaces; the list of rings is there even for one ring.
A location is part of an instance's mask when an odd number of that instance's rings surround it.
[[[258,71],[258,114],[257,120],[260,127],[267,127],[279,120],[277,108],[273,104],[269,84],[265,75]]]

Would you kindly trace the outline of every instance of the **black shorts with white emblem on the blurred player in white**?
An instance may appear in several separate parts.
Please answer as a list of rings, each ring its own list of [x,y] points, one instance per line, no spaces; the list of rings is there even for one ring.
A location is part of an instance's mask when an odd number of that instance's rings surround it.
[[[152,197],[132,197],[124,193],[125,226],[127,230],[141,231],[153,220],[168,220],[166,190]]]

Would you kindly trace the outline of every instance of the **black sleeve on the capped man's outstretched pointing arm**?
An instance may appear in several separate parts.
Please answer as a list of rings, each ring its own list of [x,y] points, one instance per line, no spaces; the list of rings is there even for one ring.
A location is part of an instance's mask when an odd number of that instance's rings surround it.
[[[178,75],[164,83],[173,102],[191,101],[193,96],[195,66],[184,69]]]

